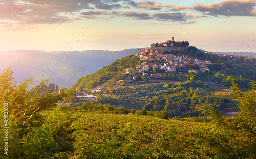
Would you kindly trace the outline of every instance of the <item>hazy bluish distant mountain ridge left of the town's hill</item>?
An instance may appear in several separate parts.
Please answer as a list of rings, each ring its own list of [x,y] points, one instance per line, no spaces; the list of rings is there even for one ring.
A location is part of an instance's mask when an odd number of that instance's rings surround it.
[[[39,81],[48,78],[51,83],[58,84],[59,87],[70,88],[80,77],[92,74],[117,59],[136,54],[141,49],[0,52],[0,74],[6,67],[12,67],[18,83],[34,78],[35,84],[39,84]]]

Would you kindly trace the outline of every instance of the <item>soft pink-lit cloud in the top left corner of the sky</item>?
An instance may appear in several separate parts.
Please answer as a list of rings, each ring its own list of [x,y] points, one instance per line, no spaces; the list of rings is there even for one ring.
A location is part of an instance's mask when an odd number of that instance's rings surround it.
[[[41,23],[63,23],[70,22],[72,19],[59,16],[67,11],[73,11],[72,7],[55,5],[38,5],[34,3],[1,3],[0,4],[0,20],[20,21],[26,24],[41,24]]]

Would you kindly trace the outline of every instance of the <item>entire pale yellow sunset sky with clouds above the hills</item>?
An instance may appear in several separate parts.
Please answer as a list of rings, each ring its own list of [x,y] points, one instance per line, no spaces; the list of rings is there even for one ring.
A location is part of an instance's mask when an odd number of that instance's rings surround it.
[[[256,0],[0,0],[0,51],[123,50],[188,41],[256,52]]]

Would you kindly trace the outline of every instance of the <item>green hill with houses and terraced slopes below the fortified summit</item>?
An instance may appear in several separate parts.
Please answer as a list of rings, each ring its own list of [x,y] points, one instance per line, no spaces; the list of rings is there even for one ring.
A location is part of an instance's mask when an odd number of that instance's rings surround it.
[[[92,88],[100,87],[106,94],[104,96],[113,98],[99,96],[98,103],[144,109],[148,114],[165,110],[170,117],[199,116],[200,106],[213,106],[217,110],[236,107],[230,94],[227,95],[225,91],[231,86],[227,79],[232,76],[240,88],[249,87],[250,80],[256,80],[256,59],[221,57],[191,49],[156,55],[182,57],[183,61],[180,62],[167,62],[157,57],[149,59],[147,55],[148,59],[144,59],[140,51],[136,56],[116,60],[96,73],[78,79],[73,87],[87,93],[91,93]],[[188,60],[190,62],[185,62]],[[176,64],[172,66],[176,71],[164,69],[164,65],[170,63]],[[189,70],[193,71],[189,73]],[[213,93],[216,90],[221,93]]]

